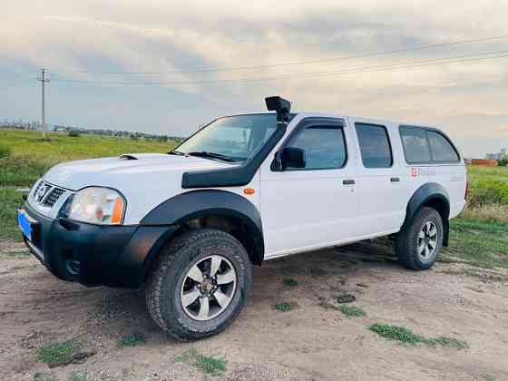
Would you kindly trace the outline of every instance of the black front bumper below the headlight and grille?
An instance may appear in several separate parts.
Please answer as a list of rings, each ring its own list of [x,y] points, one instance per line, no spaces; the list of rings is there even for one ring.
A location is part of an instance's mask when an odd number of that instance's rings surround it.
[[[56,277],[85,286],[139,288],[177,226],[99,226],[52,220],[26,206],[33,219],[26,246]]]

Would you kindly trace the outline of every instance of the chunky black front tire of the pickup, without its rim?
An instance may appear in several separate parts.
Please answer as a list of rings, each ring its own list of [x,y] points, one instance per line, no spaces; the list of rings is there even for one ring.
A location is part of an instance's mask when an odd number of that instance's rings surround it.
[[[230,305],[216,318],[199,321],[181,307],[181,282],[196,261],[210,253],[229,259],[237,274]],[[172,239],[159,253],[146,285],[151,318],[172,337],[183,341],[216,335],[230,326],[247,302],[251,282],[249,255],[238,239],[220,230],[190,230]]]

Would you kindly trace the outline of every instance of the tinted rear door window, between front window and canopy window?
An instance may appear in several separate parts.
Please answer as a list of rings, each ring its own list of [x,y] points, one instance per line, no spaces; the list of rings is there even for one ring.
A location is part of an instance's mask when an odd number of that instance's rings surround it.
[[[357,123],[356,127],[364,167],[391,167],[393,163],[392,149],[386,127],[365,123]]]

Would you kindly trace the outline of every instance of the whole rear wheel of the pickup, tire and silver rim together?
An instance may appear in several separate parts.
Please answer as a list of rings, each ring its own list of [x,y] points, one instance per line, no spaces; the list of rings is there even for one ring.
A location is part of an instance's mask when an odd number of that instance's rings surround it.
[[[407,269],[430,269],[443,246],[443,220],[432,208],[423,207],[396,237],[396,255]]]

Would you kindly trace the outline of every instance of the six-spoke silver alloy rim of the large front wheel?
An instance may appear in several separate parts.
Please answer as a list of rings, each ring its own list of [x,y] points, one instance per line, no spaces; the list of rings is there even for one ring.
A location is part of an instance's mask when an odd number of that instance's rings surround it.
[[[229,259],[210,255],[198,260],[181,284],[181,308],[194,320],[217,318],[228,306],[237,288],[237,273]]]

